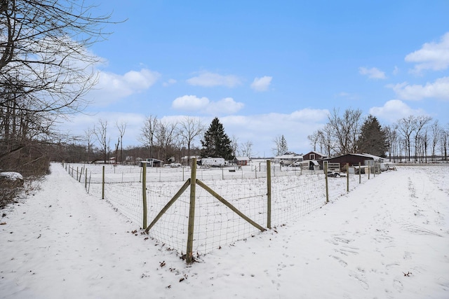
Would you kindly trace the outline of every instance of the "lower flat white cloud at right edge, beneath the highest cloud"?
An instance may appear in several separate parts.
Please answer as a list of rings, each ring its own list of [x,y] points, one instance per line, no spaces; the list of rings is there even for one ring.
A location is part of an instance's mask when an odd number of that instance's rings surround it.
[[[420,100],[424,98],[436,98],[449,100],[449,77],[438,78],[434,83],[426,85],[409,85],[408,83],[398,83],[387,85],[396,92],[400,99]]]

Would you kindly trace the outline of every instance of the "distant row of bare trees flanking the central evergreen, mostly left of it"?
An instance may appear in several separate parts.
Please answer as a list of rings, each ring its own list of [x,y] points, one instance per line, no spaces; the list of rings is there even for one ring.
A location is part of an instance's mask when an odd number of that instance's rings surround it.
[[[126,125],[124,122],[115,122],[112,126],[108,120],[99,119],[92,128],[84,131],[83,137],[76,138],[78,141],[66,146],[67,151],[62,149],[54,151],[58,154],[54,154],[52,158],[67,162],[95,160],[109,162],[111,158],[116,162],[135,162],[139,158],[156,158],[170,162],[172,157],[175,161],[181,161],[185,156],[190,158],[201,155],[199,141],[206,133],[206,126],[201,123],[201,118],[186,116],[178,121],[169,121],[154,115],[147,116],[142,123],[138,140],[133,140],[139,141],[140,146],[127,146],[123,149]],[[118,132],[118,135],[112,134],[112,131]],[[230,146],[233,156],[255,155],[252,141],[240,144],[233,136]],[[185,162],[188,162],[189,158]]]

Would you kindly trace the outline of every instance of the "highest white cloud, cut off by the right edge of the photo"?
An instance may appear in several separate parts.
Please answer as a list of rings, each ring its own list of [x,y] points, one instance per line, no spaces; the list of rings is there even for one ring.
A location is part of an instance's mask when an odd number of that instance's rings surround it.
[[[439,43],[424,43],[420,50],[406,55],[406,62],[415,62],[414,73],[424,69],[439,71],[449,67],[449,32],[441,37]]]

